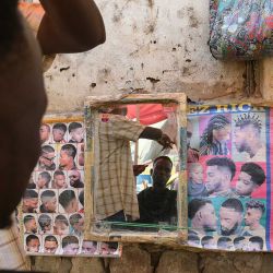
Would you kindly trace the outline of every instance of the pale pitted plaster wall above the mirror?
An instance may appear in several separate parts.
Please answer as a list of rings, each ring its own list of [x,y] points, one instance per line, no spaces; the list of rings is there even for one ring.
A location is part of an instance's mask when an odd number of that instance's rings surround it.
[[[206,45],[209,0],[96,2],[107,41],[57,57],[45,75],[49,111],[80,109],[87,95],[132,88],[186,92],[194,99],[241,91],[244,63],[217,61]]]

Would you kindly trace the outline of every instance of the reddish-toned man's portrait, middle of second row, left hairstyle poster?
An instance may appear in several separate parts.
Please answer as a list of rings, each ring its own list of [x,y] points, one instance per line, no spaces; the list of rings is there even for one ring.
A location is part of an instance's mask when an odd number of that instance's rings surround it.
[[[71,170],[76,169],[75,166],[76,149],[73,144],[66,144],[61,147],[59,157],[59,169]]]

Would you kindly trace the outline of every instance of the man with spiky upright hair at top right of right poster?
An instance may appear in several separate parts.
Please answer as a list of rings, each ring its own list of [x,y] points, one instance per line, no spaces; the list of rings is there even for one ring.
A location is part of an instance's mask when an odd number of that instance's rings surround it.
[[[235,120],[234,144],[248,162],[264,162],[266,147],[261,138],[262,120],[258,114],[242,114]]]

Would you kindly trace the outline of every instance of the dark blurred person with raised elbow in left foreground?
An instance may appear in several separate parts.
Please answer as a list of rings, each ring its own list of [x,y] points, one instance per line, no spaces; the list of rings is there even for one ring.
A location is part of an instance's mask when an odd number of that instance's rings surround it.
[[[0,269],[4,270],[26,270],[11,214],[22,198],[40,151],[39,128],[47,105],[41,52],[80,52],[105,41],[104,23],[92,0],[40,0],[40,21],[36,20],[38,45],[19,12],[17,1],[1,1],[0,90],[4,95],[0,116],[5,130],[0,132],[0,161],[4,174],[0,186]],[[25,15],[32,17],[32,14]],[[11,185],[13,190],[10,190]]]

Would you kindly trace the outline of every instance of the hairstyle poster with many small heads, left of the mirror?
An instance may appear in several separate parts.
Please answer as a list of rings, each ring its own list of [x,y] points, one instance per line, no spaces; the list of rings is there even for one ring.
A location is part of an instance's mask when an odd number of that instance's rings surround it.
[[[41,153],[22,200],[26,253],[120,257],[118,244],[83,239],[83,121],[48,119],[39,133]]]

